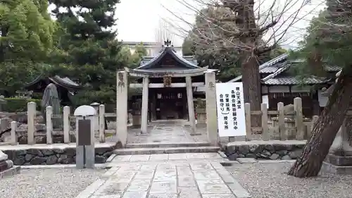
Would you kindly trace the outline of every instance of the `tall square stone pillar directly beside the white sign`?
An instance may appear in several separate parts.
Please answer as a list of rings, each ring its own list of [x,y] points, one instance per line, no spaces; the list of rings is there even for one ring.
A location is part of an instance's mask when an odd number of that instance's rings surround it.
[[[215,73],[206,72],[206,131],[208,141],[218,146],[218,116],[216,110]]]

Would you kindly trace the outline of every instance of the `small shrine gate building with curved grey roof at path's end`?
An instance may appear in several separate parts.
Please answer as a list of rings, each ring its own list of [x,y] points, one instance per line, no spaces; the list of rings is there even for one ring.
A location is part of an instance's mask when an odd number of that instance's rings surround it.
[[[170,41],[165,42],[158,56],[144,57],[138,68],[125,70],[138,78],[130,89],[143,90],[131,102],[142,98],[142,111],[148,109],[149,121],[194,116],[194,97],[203,94],[204,73],[214,71],[200,68],[190,56],[178,55]]]

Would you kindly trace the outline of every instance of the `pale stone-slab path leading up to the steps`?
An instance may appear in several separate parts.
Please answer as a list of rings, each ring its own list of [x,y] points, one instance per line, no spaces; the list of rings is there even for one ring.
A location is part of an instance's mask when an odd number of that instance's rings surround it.
[[[190,156],[184,154],[187,155]],[[210,159],[146,162],[146,158],[139,161],[144,163],[130,159],[127,163],[118,160],[111,163],[112,168],[76,198],[250,197],[249,192],[220,164],[220,158],[211,159],[213,162]]]

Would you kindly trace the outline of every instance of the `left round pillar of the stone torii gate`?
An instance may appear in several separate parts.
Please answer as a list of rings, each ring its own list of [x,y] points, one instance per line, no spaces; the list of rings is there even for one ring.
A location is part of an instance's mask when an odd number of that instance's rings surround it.
[[[149,99],[149,78],[143,78],[142,92],[142,123],[141,133],[146,133],[148,128],[148,99]]]

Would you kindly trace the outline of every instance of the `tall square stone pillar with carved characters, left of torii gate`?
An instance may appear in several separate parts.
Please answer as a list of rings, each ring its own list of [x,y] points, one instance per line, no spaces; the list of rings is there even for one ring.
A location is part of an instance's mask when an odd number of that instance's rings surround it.
[[[123,147],[127,142],[127,73],[119,71],[116,78],[116,136]]]

